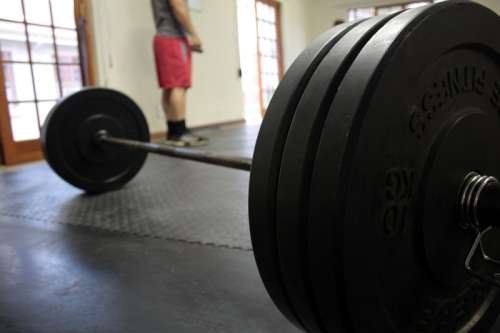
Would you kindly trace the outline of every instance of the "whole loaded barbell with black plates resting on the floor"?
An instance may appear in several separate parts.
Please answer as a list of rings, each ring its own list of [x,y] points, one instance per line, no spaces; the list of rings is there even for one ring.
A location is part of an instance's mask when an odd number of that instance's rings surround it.
[[[485,332],[499,314],[500,19],[450,1],[344,24],[291,65],[254,156],[149,142],[139,107],[94,88],[42,130],[49,165],[117,189],[158,153],[251,170],[266,289],[308,332]]]

